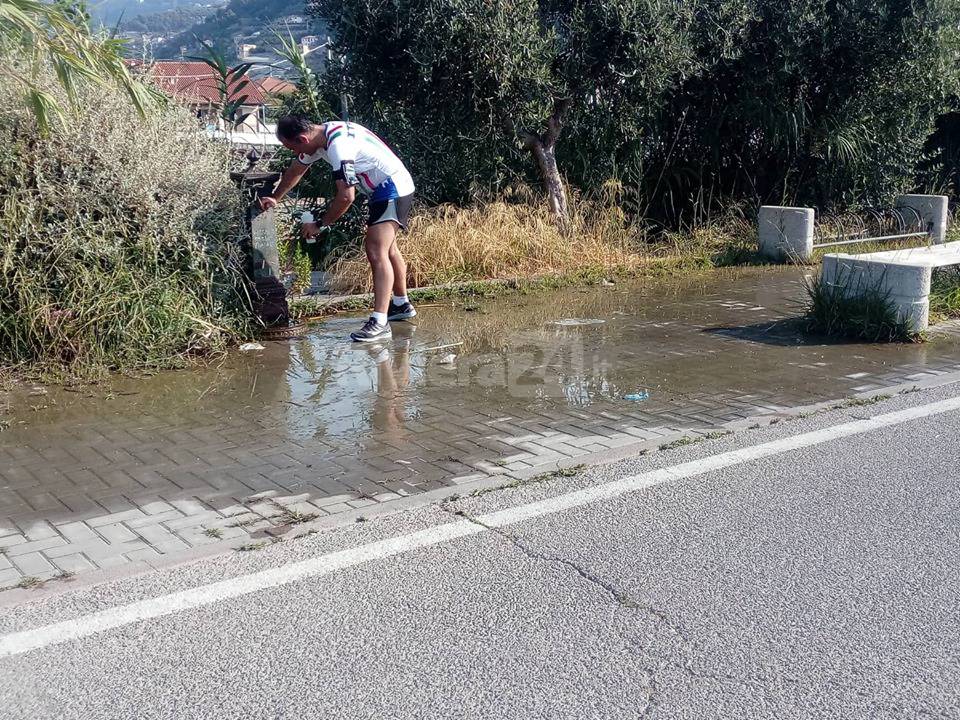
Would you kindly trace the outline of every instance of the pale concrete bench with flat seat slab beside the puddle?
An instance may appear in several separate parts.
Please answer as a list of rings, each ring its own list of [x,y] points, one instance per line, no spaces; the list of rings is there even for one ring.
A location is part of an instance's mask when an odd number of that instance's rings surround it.
[[[930,324],[930,275],[933,268],[960,265],[960,242],[883,252],[823,256],[821,282],[845,297],[879,294],[889,299],[913,332]]]

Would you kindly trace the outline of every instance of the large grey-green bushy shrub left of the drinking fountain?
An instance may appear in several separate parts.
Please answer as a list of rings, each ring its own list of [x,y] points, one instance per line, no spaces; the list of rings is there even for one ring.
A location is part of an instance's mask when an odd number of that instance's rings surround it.
[[[164,366],[222,348],[249,318],[227,150],[182,110],[143,118],[102,87],[78,100],[47,136],[0,108],[0,365]]]

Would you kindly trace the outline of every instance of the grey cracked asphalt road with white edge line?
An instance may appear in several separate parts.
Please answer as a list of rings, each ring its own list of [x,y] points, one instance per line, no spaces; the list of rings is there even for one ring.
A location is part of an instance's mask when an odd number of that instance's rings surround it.
[[[957,396],[6,607],[0,715],[960,718]]]

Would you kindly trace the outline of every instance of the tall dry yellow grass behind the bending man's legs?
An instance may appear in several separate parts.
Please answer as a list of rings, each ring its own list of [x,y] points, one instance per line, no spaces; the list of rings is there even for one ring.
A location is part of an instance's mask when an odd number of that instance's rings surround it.
[[[709,226],[654,233],[631,223],[609,198],[575,198],[561,229],[542,202],[494,200],[472,207],[418,211],[399,244],[411,287],[504,278],[660,273],[664,261],[700,267],[755,260],[756,230],[731,215]],[[334,291],[370,292],[370,268],[359,247],[331,263]]]

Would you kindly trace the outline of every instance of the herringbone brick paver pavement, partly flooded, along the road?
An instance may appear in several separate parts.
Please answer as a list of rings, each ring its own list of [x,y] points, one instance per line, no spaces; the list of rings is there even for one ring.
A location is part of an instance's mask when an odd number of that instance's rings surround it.
[[[798,271],[756,269],[510,297],[424,308],[382,348],[345,342],[356,320],[336,318],[219,368],[18,393],[0,433],[0,586],[960,371],[952,336],[804,340],[785,320],[802,296]]]

